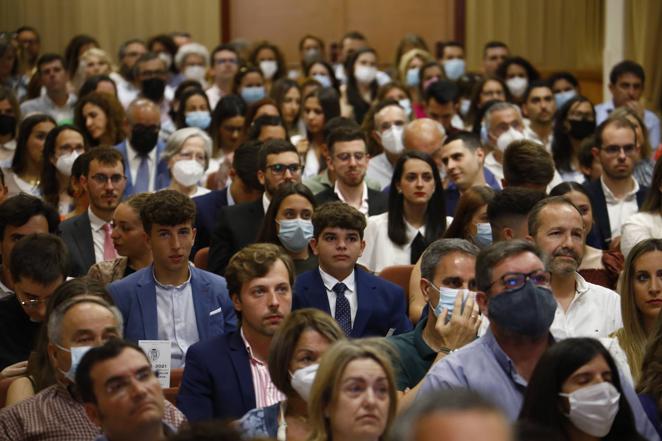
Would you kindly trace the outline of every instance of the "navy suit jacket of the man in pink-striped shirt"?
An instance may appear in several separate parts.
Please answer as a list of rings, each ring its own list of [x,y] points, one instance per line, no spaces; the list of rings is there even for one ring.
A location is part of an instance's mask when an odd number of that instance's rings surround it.
[[[251,366],[239,331],[189,348],[177,396],[177,407],[189,421],[235,420],[255,406]]]

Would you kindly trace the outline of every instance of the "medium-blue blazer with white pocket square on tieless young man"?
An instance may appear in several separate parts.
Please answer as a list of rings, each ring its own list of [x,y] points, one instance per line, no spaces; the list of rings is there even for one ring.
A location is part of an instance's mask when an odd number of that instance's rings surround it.
[[[158,340],[156,285],[150,265],[108,285],[124,318],[127,340]],[[237,315],[223,277],[191,266],[191,291],[200,340],[237,329]]]

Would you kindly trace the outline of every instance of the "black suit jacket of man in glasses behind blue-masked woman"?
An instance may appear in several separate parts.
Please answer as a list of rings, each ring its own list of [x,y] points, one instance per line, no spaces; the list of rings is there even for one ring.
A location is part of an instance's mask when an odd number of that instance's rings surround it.
[[[262,219],[262,197],[254,202],[221,208],[209,244],[208,271],[223,275],[234,253],[255,242]]]

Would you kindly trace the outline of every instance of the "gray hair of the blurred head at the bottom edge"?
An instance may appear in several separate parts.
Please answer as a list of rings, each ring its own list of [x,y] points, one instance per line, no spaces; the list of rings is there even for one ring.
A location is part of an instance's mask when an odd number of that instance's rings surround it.
[[[395,419],[386,440],[413,441],[416,426],[423,418],[436,413],[455,413],[458,411],[494,413],[501,417],[504,426],[510,428],[503,411],[483,396],[468,389],[447,389],[434,391],[423,395],[421,399],[417,399]]]

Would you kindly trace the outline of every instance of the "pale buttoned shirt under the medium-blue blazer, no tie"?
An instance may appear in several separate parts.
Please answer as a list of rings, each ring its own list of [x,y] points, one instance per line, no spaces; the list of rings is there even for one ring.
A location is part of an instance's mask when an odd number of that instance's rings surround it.
[[[156,317],[159,340],[169,340],[171,367],[184,366],[189,346],[200,340],[198,321],[195,317],[191,271],[188,280],[181,285],[159,283],[152,267],[156,288]]]

